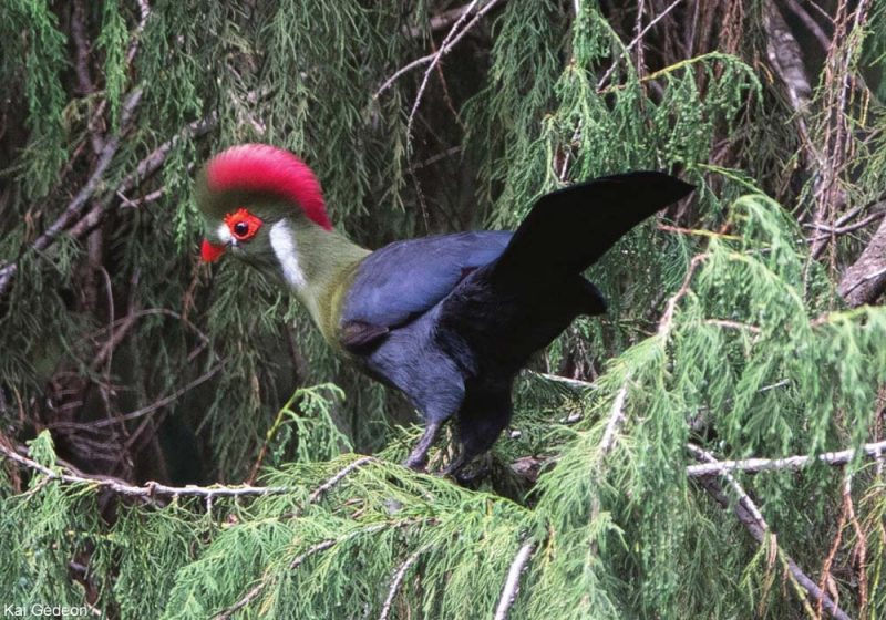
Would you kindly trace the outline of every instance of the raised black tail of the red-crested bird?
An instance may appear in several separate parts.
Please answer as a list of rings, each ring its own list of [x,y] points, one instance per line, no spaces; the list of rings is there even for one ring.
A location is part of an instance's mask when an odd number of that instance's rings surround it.
[[[635,172],[538,199],[496,267],[496,277],[580,273],[640,221],[694,189],[664,173]]]

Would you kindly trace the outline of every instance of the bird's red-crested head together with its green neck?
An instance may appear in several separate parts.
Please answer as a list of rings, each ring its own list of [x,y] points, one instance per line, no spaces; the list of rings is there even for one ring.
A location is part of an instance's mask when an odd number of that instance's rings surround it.
[[[200,170],[197,207],[205,261],[229,252],[281,280],[334,342],[344,292],[369,252],[332,230],[320,184],[301,159],[264,144],[228,148]]]

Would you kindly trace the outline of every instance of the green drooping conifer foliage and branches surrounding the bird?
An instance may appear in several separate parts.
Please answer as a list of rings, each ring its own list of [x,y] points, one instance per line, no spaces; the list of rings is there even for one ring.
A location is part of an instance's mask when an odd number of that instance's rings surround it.
[[[868,0],[4,0],[0,609],[886,617],[886,10]],[[465,487],[192,179],[317,170],[368,247],[629,169],[693,197],[589,276]],[[432,452],[431,468],[451,455]]]

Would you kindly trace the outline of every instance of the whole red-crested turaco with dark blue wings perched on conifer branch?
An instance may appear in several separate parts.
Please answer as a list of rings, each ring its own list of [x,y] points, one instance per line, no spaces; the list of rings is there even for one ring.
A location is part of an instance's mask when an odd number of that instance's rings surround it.
[[[402,392],[424,418],[403,463],[425,471],[447,421],[456,476],[513,415],[518,372],[578,316],[607,304],[584,277],[616,241],[694,186],[628,172],[538,198],[517,229],[463,231],[370,251],[332,227],[313,170],[267,144],[231,146],[197,174],[205,262],[226,252],[291,291],[326,342]]]

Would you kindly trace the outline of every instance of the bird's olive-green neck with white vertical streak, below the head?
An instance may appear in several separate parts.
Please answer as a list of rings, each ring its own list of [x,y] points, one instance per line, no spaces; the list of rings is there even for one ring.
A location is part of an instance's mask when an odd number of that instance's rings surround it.
[[[272,226],[278,276],[308,309],[323,338],[334,344],[344,292],[369,250],[300,218]]]

